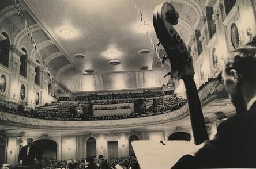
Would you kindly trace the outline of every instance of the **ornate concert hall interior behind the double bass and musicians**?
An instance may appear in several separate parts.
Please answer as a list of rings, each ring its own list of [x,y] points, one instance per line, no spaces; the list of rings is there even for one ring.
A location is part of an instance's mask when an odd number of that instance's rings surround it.
[[[133,169],[134,140],[194,144],[185,83],[168,74],[153,24],[163,2],[179,14],[213,139],[236,114],[221,73],[256,34],[255,0],[1,0],[0,166],[17,167],[28,138],[42,168],[103,155]]]

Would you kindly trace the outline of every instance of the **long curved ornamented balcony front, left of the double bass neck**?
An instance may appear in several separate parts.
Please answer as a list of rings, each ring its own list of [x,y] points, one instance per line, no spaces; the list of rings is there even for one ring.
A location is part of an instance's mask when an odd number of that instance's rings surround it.
[[[56,120],[42,120],[37,118],[30,118],[20,116],[18,114],[5,113],[0,111],[0,124],[22,126],[25,128],[38,129],[96,129],[96,128],[127,128],[130,126],[148,126],[156,124],[164,124],[180,120],[189,114],[187,103],[180,109],[159,114],[155,116],[130,118],[121,120],[98,120],[98,121],[56,121]],[[111,135],[111,134],[108,134]]]

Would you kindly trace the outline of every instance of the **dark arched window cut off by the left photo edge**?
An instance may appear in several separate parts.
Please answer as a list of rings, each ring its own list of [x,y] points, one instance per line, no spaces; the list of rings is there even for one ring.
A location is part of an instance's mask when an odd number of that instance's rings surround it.
[[[5,32],[2,32],[2,35],[6,37],[6,40],[0,41],[0,63],[9,67],[10,39]]]

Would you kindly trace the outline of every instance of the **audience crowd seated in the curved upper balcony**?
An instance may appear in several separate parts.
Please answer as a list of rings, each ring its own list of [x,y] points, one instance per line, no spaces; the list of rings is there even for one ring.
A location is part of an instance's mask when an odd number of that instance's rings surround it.
[[[58,102],[47,102],[42,107],[36,107],[35,110],[30,111],[17,111],[16,108],[10,107],[4,103],[0,103],[0,110],[9,113],[20,114],[21,116],[27,116],[32,118],[39,118],[45,120],[63,120],[63,121],[77,121],[77,120],[119,120],[119,119],[127,119],[127,118],[138,118],[138,117],[146,117],[153,116],[157,114],[168,113],[174,110],[179,109],[187,102],[186,99],[177,98],[173,95],[165,95],[155,93],[126,93],[124,94],[124,98],[121,97],[122,94],[110,94],[110,95],[99,95],[93,96],[93,99],[109,99],[109,100],[91,100],[91,101],[79,101],[76,106],[80,107],[78,109],[78,113],[76,107],[73,105],[73,102],[70,101],[58,101]],[[131,109],[130,105],[115,105],[115,106],[99,106],[94,110],[120,110],[120,113],[116,114],[104,114],[102,116],[94,116],[92,113],[92,105],[110,105],[110,104],[122,104],[122,103],[132,103],[137,98],[129,98],[129,97],[152,97],[154,96],[152,106],[150,109],[144,110],[144,112],[138,113],[122,113],[122,109]],[[127,99],[126,99],[127,97]],[[89,97],[86,97],[89,98]],[[89,99],[92,99],[89,98]],[[112,99],[114,98],[114,99]],[[111,100],[112,99],[112,100]],[[144,98],[147,101],[149,98]],[[81,111],[82,109],[82,111]]]

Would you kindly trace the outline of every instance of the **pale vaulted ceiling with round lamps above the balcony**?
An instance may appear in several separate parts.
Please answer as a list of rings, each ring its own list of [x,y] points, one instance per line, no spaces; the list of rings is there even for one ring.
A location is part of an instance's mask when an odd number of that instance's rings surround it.
[[[167,82],[152,44],[157,43],[152,14],[163,0],[136,2],[149,25],[148,34],[140,29],[141,17],[133,0],[21,1],[33,18],[29,24],[37,23],[42,28],[33,32],[33,37],[41,47],[44,62],[55,79],[71,91],[157,87]],[[175,28],[186,42],[202,16],[203,2],[171,3],[180,16]],[[29,37],[22,41],[28,42]],[[119,64],[110,64],[111,60]]]

